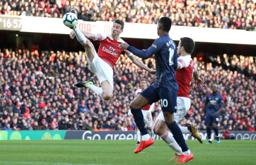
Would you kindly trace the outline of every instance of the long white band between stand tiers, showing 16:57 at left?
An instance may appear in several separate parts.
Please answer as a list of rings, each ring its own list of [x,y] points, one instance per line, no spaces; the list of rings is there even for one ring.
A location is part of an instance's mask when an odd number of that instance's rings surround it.
[[[111,33],[113,22],[96,21],[87,22],[78,20],[78,28],[91,33]],[[128,23],[120,37],[135,39],[156,39],[156,24]],[[34,33],[69,34],[61,18],[27,17],[0,15],[0,30]],[[189,26],[172,26],[169,32],[173,40],[181,37],[190,37],[195,42],[249,44],[256,45],[256,32],[219,28],[200,28]]]

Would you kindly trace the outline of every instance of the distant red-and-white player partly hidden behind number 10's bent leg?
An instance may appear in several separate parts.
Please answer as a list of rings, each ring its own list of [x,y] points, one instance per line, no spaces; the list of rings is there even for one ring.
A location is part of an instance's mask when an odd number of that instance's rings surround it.
[[[147,82],[148,80],[146,78],[142,78],[141,80],[139,80],[139,85],[141,86],[141,89],[138,89],[137,91],[135,91],[135,95],[138,96],[144,89],[147,88]],[[150,131],[150,137],[153,138],[154,132],[152,129],[152,125],[153,125],[153,120],[152,120],[152,109],[154,108],[155,103],[153,104],[148,104],[145,107],[141,108],[142,114],[143,114],[143,118],[144,118],[144,122],[147,124],[147,128]],[[128,115],[130,116],[132,114],[131,109],[128,112]],[[136,139],[137,139],[137,144],[139,145],[140,141],[141,141],[141,132],[139,131],[138,127],[135,126],[135,134],[136,134]]]

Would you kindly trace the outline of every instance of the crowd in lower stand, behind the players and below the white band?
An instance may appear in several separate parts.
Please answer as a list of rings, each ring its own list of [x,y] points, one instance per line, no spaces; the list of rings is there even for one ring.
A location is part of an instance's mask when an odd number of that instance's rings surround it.
[[[179,124],[196,123],[199,130],[206,129],[202,104],[217,83],[224,98],[219,128],[255,131],[256,59],[227,54],[209,59],[213,60],[194,57],[204,87],[195,88],[192,83],[191,109]],[[154,59],[145,60],[145,64],[155,68]],[[105,101],[89,89],[75,87],[76,82],[90,78],[100,86],[84,52],[36,54],[3,48],[0,70],[1,130],[134,130],[133,118],[127,115],[129,103],[139,89],[139,80],[153,77],[121,56],[114,69],[113,98]],[[156,102],[153,122],[160,112]]]

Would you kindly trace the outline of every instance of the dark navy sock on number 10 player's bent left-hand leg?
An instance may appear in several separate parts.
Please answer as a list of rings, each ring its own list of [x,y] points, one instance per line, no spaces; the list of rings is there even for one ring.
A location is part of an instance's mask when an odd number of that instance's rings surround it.
[[[141,109],[131,109],[131,112],[132,112],[132,115],[134,116],[134,121],[136,123],[136,126],[139,128],[139,131],[141,132],[141,135],[148,134],[148,131],[145,128],[145,122],[144,122]]]

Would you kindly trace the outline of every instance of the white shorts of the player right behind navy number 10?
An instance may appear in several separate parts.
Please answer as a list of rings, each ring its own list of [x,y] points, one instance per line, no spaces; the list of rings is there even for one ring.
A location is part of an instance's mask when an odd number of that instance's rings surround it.
[[[186,114],[187,111],[190,109],[190,98],[187,97],[177,97],[177,112],[174,113],[174,120],[178,123]],[[165,121],[165,118],[163,116],[163,111],[159,113],[156,120],[162,120]]]

